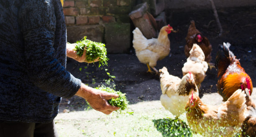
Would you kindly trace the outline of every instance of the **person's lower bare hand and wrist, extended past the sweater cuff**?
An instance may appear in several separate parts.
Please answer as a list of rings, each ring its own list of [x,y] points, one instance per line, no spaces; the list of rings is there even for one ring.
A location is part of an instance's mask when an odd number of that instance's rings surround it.
[[[118,97],[118,94],[115,93],[96,90],[82,84],[76,95],[83,97],[93,109],[106,115],[109,115],[111,112],[119,109],[119,107],[112,106],[108,103],[108,100]]]

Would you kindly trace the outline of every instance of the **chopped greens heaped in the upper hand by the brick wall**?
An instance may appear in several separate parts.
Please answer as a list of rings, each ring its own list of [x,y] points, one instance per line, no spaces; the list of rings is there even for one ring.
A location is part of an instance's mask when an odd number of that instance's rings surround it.
[[[80,41],[77,41],[76,44],[77,45],[75,46],[74,50],[77,51],[77,55],[80,57],[84,53],[84,47],[86,47],[86,60],[93,61],[99,58],[99,67],[101,65],[108,64],[107,49],[105,48],[105,44],[87,40],[86,37]]]

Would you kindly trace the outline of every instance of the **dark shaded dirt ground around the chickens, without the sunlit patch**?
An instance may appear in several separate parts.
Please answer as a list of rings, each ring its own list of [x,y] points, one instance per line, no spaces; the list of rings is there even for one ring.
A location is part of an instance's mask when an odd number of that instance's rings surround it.
[[[223,42],[230,42],[230,50],[240,59],[242,67],[250,75],[253,85],[256,85],[256,8],[238,7],[218,9],[220,23],[223,27],[223,35],[218,37],[218,26],[212,22],[209,27],[205,27],[211,20],[215,20],[212,10],[182,12],[166,11],[166,20],[177,33],[171,33],[170,55],[157,62],[156,68],[167,67],[171,75],[182,77],[182,67],[186,62],[184,55],[185,37],[190,20],[195,20],[198,30],[208,37],[212,44],[212,63],[215,62],[215,55],[218,45]],[[105,84],[105,80],[111,77],[111,84],[116,85],[116,90],[126,93],[130,104],[137,102],[159,100],[161,88],[158,75],[147,73],[146,65],[140,63],[133,48],[129,54],[109,54],[108,66],[98,67],[98,64],[87,64],[67,60],[67,70],[82,82],[95,87]],[[79,70],[81,69],[81,70]],[[200,96],[205,93],[216,93],[218,81],[217,71],[208,70],[205,80],[201,84]],[[256,91],[254,91],[256,92]],[[69,103],[70,102],[70,103]],[[64,109],[79,111],[86,108],[86,102],[80,97],[62,99],[60,112]]]

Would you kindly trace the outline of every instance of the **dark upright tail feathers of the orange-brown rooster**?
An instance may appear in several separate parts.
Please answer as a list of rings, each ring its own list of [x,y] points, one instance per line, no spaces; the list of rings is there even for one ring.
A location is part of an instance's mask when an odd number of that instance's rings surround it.
[[[219,45],[219,51],[216,54],[215,58],[215,67],[218,68],[218,77],[223,75],[230,65],[230,44],[224,43],[223,45]],[[231,52],[232,53],[232,52]],[[233,53],[232,53],[233,55]]]

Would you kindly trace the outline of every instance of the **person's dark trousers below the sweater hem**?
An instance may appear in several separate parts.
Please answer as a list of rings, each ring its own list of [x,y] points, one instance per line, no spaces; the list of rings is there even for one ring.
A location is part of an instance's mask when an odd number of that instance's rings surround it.
[[[51,123],[22,123],[0,121],[0,137],[58,137]]]

